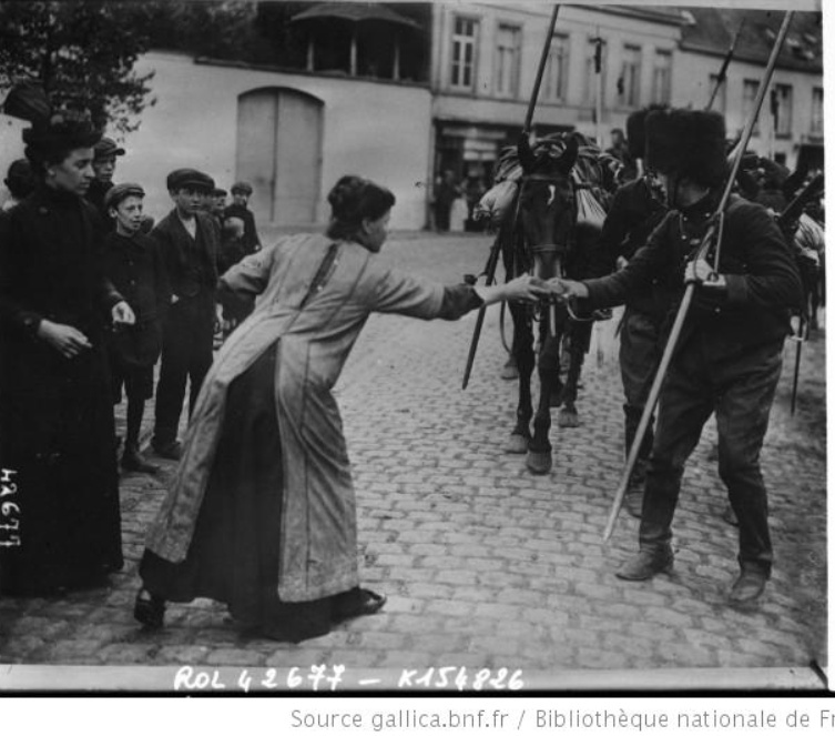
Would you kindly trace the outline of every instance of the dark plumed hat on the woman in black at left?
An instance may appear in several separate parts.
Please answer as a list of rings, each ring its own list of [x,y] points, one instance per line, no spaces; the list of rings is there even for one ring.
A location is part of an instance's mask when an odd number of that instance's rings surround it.
[[[89,112],[54,110],[38,82],[16,84],[6,97],[3,112],[31,123],[22,134],[26,155],[40,165],[55,162],[73,149],[92,148],[102,137]]]

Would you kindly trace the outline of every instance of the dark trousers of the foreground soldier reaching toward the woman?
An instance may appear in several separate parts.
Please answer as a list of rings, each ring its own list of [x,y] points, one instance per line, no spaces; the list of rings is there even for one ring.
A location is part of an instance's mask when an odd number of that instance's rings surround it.
[[[646,471],[640,546],[658,551],[670,543],[684,463],[715,411],[719,473],[740,521],[737,559],[743,567],[770,574],[773,552],[760,451],[783,364],[783,341],[724,360],[711,352],[696,334],[670,365]]]

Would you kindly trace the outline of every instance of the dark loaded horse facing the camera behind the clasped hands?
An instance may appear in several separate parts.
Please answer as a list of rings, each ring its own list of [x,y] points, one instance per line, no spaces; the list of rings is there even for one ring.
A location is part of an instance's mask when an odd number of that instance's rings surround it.
[[[579,133],[549,135],[533,145],[522,135],[519,145],[506,149],[497,172],[497,186],[506,194],[503,206],[497,211],[489,192],[482,202],[492,210],[493,220],[498,215],[507,278],[527,272],[540,279],[584,279],[611,270],[598,243],[619,167],[620,162]],[[581,314],[556,301],[537,307],[511,303],[510,314],[519,402],[505,450],[527,453],[528,468],[546,474],[553,465],[550,409],[561,406],[559,426],[578,425],[578,383],[592,325],[607,315]],[[534,324],[539,326],[537,351]],[[569,359],[564,381],[560,375],[563,351]],[[534,367],[540,386],[536,414]]]

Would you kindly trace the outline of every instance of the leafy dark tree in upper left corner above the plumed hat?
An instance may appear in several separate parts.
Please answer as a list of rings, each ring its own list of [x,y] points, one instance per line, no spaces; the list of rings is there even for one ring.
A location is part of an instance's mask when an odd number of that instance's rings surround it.
[[[64,0],[0,2],[0,89],[30,79],[53,107],[90,110],[93,122],[119,133],[139,128],[153,72],[133,67],[151,40],[141,2]]]

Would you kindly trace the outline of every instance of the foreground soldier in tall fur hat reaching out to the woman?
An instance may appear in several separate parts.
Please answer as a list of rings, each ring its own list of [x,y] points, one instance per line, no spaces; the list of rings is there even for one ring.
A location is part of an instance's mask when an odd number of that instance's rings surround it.
[[[727,175],[725,125],[713,112],[669,110],[646,117],[648,165],[660,172],[671,208],[621,271],[587,282],[553,282],[563,299],[613,306],[652,280],[681,295],[696,284],[661,392],[639,533],[640,551],[617,573],[643,581],[672,568],[672,521],[684,463],[715,412],[719,473],[739,517],[741,567],[729,599],[751,604],[771,576],[773,551],[760,451],[782,367],[791,311],[802,299],[794,256],[767,210],[732,195],[717,270],[714,243],[695,260]]]

